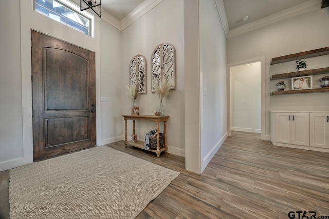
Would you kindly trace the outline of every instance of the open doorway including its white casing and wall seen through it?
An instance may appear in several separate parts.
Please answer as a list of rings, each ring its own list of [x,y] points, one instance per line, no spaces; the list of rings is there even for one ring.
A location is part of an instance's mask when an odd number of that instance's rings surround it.
[[[265,123],[265,56],[228,64],[227,78],[228,135],[231,130],[255,132],[269,141]]]

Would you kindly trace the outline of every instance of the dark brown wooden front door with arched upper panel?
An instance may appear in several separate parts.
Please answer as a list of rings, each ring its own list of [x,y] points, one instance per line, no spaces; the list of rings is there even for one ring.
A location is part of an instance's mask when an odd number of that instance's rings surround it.
[[[96,146],[95,53],[31,31],[34,161]]]

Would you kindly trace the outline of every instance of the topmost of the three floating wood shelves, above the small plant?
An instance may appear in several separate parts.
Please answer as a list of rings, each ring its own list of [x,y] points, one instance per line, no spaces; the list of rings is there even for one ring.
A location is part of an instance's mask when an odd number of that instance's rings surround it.
[[[310,57],[316,57],[316,56],[320,56],[320,55],[328,55],[328,54],[329,54],[329,47],[324,47],[321,49],[314,49],[314,50],[309,50],[306,52],[299,52],[299,53],[295,53],[295,54],[275,57],[275,58],[271,59],[270,65],[290,62],[290,61],[294,61],[294,60],[302,59],[302,58],[310,58]]]

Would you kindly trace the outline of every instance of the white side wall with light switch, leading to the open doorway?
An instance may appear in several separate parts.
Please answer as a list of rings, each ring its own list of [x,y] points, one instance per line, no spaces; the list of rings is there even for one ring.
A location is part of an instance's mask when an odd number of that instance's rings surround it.
[[[226,36],[215,1],[199,1],[199,34],[202,172],[227,137]]]

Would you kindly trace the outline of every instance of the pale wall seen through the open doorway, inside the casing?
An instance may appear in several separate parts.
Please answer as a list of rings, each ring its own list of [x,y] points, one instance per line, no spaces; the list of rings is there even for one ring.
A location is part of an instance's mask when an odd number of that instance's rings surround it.
[[[261,62],[233,66],[230,72],[231,130],[261,133]]]

